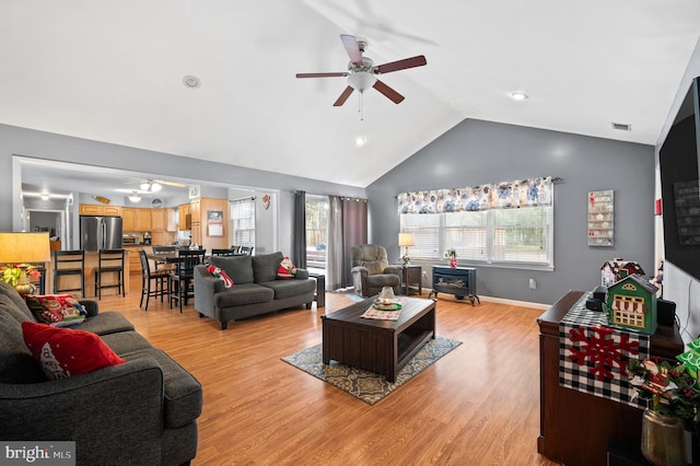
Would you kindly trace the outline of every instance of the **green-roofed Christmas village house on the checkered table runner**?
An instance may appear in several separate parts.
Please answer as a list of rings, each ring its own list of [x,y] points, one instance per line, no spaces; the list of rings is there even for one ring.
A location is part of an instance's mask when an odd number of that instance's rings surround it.
[[[608,325],[652,335],[656,330],[657,291],[639,275],[609,286],[605,301]]]

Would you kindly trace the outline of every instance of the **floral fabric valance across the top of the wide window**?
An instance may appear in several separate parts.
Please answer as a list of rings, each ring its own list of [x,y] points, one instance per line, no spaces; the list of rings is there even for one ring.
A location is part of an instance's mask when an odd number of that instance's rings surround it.
[[[551,205],[551,176],[475,187],[402,193],[399,213],[442,213]]]

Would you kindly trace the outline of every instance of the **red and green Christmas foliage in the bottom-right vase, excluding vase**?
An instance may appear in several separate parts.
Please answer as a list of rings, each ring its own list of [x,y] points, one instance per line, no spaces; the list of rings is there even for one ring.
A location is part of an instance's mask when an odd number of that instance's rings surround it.
[[[700,392],[686,365],[654,357],[643,361],[630,359],[627,374],[650,409],[677,417],[686,426],[692,421],[700,406]]]

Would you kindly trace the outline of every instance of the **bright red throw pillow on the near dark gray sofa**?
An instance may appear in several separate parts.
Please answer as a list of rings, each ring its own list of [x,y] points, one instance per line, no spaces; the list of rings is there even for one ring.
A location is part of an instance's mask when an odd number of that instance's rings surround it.
[[[42,370],[54,381],[126,362],[90,331],[23,322],[22,333]]]

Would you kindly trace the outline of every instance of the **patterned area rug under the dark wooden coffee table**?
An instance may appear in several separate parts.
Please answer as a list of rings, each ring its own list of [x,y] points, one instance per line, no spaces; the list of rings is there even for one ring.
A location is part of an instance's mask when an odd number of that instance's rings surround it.
[[[378,375],[362,369],[350,368],[335,361],[331,361],[330,364],[324,364],[320,345],[306,348],[305,350],[285,356],[281,359],[349,393],[355,398],[360,398],[369,405],[374,405],[459,345],[462,345],[460,341],[444,337],[429,340],[425,346],[401,368],[394,383],[388,382],[384,375]]]

